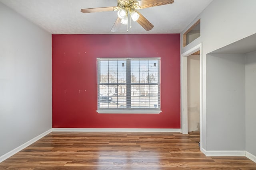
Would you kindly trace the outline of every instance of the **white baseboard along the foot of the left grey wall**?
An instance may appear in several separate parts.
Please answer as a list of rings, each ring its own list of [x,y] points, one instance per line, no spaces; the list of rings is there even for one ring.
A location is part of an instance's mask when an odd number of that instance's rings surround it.
[[[7,152],[6,154],[0,156],[0,162],[3,162],[4,160],[6,160],[7,158],[10,158],[12,155],[20,152],[20,150],[28,147],[29,145],[31,145],[32,143],[38,141],[39,139],[41,139],[42,137],[44,137],[45,135],[48,135],[49,133],[52,132],[52,129],[49,129],[48,131],[38,135],[37,137],[34,137],[33,139],[27,141],[26,143],[20,145],[19,147],[11,150],[10,152]]]

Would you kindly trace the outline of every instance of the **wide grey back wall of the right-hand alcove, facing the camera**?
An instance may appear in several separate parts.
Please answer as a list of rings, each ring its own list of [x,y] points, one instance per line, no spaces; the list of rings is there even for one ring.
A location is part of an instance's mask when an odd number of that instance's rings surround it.
[[[207,55],[207,150],[245,150],[245,58]]]

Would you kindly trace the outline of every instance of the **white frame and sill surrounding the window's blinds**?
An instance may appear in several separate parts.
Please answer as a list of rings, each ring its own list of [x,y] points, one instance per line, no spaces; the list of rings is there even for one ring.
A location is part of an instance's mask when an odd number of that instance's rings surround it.
[[[99,62],[98,61],[110,61],[110,60],[126,60],[126,64],[130,64],[130,61],[132,60],[139,60],[139,61],[142,61],[142,60],[158,60],[158,90],[159,90],[159,101],[158,101],[158,104],[159,104],[159,108],[98,108],[99,105],[98,105],[98,100],[99,100],[99,87],[100,87],[100,76],[99,76],[99,70],[98,68],[100,67],[99,65]],[[160,57],[148,57],[148,58],[97,58],[97,112],[98,113],[132,113],[132,114],[159,114],[161,113],[161,102],[160,102]],[[128,68],[130,68],[130,66],[128,66]],[[128,70],[127,68],[127,70]],[[131,69],[128,71],[127,73],[127,76],[126,76],[126,87],[129,88],[131,86],[131,80],[130,80],[130,74],[131,72]]]

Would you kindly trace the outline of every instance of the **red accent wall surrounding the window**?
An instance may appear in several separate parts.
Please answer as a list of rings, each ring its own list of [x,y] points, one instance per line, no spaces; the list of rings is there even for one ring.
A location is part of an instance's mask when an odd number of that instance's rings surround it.
[[[160,114],[99,114],[97,57],[161,57]],[[180,34],[52,35],[53,128],[180,128]]]

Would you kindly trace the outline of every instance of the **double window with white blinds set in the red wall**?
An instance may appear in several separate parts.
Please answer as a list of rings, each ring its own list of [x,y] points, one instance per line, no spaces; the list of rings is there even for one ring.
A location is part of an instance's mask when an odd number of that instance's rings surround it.
[[[97,58],[98,113],[160,113],[160,58]]]

